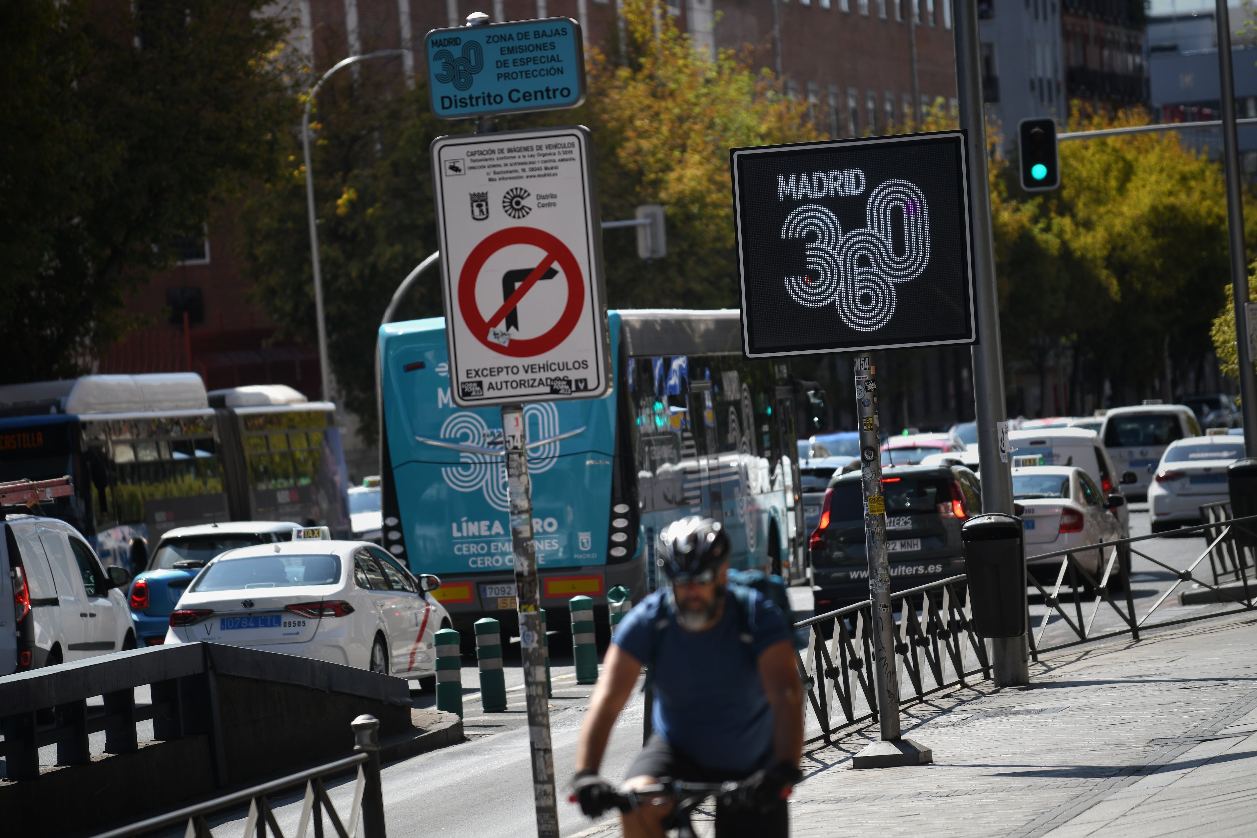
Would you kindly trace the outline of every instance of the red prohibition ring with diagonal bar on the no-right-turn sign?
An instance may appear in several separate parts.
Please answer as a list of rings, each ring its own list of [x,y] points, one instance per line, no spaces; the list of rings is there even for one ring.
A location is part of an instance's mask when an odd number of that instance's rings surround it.
[[[535,338],[512,338],[507,346],[500,346],[489,339],[489,323],[480,317],[480,307],[475,299],[475,285],[480,278],[480,269],[489,256],[503,248],[510,245],[532,245],[546,251],[544,259],[558,263],[563,276],[567,278],[567,305],[558,323],[551,327],[549,332]],[[468,255],[459,274],[459,310],[463,313],[463,322],[475,335],[476,340],[498,354],[510,358],[533,358],[544,352],[549,352],[572,334],[572,329],[581,319],[581,310],[585,308],[585,280],[581,275],[581,266],[576,263],[576,256],[559,239],[537,227],[507,227],[486,236]]]

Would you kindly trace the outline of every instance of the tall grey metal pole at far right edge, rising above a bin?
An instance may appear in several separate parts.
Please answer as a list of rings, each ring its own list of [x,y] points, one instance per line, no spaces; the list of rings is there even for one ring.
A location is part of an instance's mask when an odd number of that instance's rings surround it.
[[[1236,83],[1231,68],[1231,16],[1227,0],[1217,0],[1218,77],[1222,80],[1222,150],[1227,172],[1227,227],[1231,244],[1231,293],[1236,298],[1236,359],[1244,420],[1244,452],[1257,456],[1257,381],[1248,349],[1248,261],[1244,255],[1244,206],[1239,195],[1239,151],[1236,138]]]

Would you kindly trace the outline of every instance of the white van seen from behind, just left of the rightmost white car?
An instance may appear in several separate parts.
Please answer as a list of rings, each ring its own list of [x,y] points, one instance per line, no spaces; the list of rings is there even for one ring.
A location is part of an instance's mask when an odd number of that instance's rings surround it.
[[[1104,417],[1100,438],[1120,471],[1134,471],[1138,482],[1126,487],[1130,500],[1148,500],[1148,486],[1161,455],[1174,440],[1202,436],[1195,413],[1185,405],[1114,407]]]

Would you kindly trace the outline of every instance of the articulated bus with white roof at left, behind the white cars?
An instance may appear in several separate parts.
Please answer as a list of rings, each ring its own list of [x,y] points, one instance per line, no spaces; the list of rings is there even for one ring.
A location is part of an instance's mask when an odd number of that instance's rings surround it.
[[[69,475],[74,494],[34,511],[74,525],[106,564],[129,567],[137,540],[192,524],[349,530],[336,407],[289,387],[84,376],[0,387],[0,481]]]

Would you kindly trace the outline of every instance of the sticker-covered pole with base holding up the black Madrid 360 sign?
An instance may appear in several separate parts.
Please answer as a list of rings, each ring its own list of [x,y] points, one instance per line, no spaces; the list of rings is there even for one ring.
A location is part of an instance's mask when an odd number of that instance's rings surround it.
[[[872,648],[876,658],[877,719],[881,741],[852,760],[854,768],[920,765],[934,760],[928,748],[900,739],[899,668],[895,666],[895,612],[890,607],[890,559],[886,554],[886,501],[881,494],[881,440],[877,436],[877,379],[869,356],[856,356],[856,416],[860,427],[861,485],[865,500],[865,550],[869,555],[869,599],[872,604]]]

